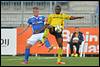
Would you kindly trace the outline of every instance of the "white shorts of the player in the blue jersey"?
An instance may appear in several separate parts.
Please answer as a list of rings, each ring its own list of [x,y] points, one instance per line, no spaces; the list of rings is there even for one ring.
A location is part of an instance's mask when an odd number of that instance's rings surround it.
[[[33,34],[28,40],[27,44],[34,45],[38,40],[42,40],[44,33]]]

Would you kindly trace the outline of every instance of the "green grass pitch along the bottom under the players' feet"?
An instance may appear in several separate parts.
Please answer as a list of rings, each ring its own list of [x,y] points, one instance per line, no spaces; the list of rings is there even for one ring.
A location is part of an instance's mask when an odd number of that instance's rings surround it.
[[[63,57],[65,64],[56,64],[56,57],[30,56],[29,64],[21,64],[24,56],[1,56],[1,66],[99,66],[99,57]]]

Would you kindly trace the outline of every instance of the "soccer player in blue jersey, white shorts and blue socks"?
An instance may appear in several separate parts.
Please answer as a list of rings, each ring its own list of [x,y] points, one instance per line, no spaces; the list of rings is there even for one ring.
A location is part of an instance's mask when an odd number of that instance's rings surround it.
[[[42,15],[39,15],[39,8],[38,7],[34,7],[33,8],[33,15],[32,17],[30,17],[28,19],[28,27],[32,26],[32,31],[33,34],[32,36],[27,40],[27,45],[26,45],[26,49],[25,49],[25,58],[24,58],[24,62],[23,64],[28,64],[28,59],[29,59],[29,55],[30,55],[30,48],[32,47],[32,45],[34,45],[37,41],[41,41],[44,35],[44,30],[45,30],[45,17]],[[28,28],[27,27],[27,28]],[[45,46],[49,49],[52,48],[52,46],[50,46],[49,41],[46,39],[45,40]]]

